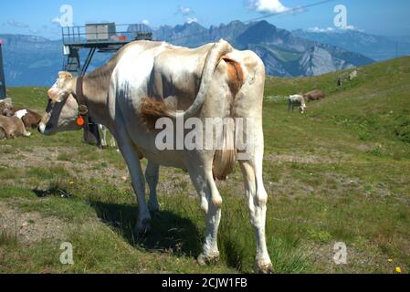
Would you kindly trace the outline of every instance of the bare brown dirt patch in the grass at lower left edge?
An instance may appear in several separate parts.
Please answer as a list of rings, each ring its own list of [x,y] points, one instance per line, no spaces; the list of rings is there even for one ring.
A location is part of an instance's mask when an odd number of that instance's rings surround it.
[[[0,231],[16,235],[21,245],[32,245],[42,240],[64,239],[68,224],[56,217],[44,217],[37,212],[22,213],[0,202]]]

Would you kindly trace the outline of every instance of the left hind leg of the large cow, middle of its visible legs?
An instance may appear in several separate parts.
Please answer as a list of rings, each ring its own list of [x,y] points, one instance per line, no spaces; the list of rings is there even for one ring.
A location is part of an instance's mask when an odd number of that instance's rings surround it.
[[[199,265],[216,262],[219,259],[217,234],[221,221],[222,197],[219,194],[212,169],[201,168],[190,170],[194,187],[201,198],[201,209],[205,213],[205,244],[203,252],[198,256]]]

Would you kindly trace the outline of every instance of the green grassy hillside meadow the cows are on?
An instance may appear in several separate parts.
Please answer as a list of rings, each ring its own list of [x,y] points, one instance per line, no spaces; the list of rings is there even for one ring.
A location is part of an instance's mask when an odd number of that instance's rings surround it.
[[[268,78],[264,106],[268,250],[279,273],[410,270],[410,58],[342,73]],[[289,113],[289,94],[327,98]],[[16,104],[42,110],[47,89],[10,89]],[[225,199],[221,262],[198,266],[204,216],[184,172],[163,169],[162,212],[152,234],[132,235],[137,214],[116,150],[81,133],[0,141],[0,272],[251,272],[255,244],[238,169],[218,183]],[[145,163],[145,162],[144,162]],[[59,263],[62,242],[73,266]],[[333,245],[347,245],[347,265]]]

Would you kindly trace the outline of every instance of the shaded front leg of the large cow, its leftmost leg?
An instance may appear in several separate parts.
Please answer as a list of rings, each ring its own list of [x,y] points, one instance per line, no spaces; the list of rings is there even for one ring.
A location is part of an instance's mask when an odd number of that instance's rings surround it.
[[[145,179],[142,173],[140,155],[127,134],[118,138],[118,144],[131,174],[132,188],[137,195],[138,219],[135,232],[137,235],[144,235],[151,229],[151,215],[145,200]]]

